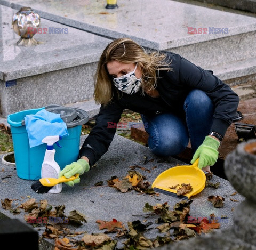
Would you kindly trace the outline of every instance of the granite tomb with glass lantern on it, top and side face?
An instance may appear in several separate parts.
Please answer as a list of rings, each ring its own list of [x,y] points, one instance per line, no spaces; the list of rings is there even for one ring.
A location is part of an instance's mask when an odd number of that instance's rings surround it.
[[[17,11],[0,5],[0,116],[91,99],[98,59],[110,40],[41,18],[47,31],[34,36],[39,45],[17,46],[11,26]],[[53,34],[51,27],[66,33]]]

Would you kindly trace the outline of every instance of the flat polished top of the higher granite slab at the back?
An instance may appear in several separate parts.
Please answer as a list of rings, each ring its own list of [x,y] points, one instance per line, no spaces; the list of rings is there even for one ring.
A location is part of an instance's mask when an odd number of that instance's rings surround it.
[[[250,32],[256,18],[171,0],[118,0],[118,9],[105,9],[105,0],[0,0],[13,7],[30,6],[41,17],[111,38],[130,37],[142,46],[166,50]],[[206,34],[188,34],[188,27],[207,28]],[[227,34],[209,34],[228,28]]]

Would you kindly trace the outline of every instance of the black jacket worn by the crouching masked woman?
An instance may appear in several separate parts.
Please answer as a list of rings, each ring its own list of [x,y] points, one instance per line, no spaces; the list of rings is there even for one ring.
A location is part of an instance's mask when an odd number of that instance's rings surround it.
[[[117,94],[106,107],[101,106],[95,120],[95,127],[85,139],[79,157],[89,158],[93,165],[107,152],[114,138],[116,128],[108,125],[117,124],[124,109],[140,114],[154,116],[163,112],[183,114],[183,103],[189,91],[198,88],[206,92],[215,106],[211,131],[225,135],[227,128],[235,116],[238,106],[238,95],[213,75],[212,71],[204,70],[182,58],[178,54],[167,54],[167,62],[171,62],[173,71],[159,70],[157,87],[160,98],[151,98],[140,91],[133,95],[123,93],[118,100]],[[112,123],[111,123],[112,122]]]

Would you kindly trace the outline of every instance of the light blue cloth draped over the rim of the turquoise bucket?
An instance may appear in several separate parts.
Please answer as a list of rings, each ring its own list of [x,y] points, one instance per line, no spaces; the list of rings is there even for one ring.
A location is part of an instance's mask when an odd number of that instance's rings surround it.
[[[60,114],[46,109],[38,111],[35,115],[26,115],[24,120],[30,148],[43,144],[42,140],[46,136],[68,135],[67,125],[60,118]]]

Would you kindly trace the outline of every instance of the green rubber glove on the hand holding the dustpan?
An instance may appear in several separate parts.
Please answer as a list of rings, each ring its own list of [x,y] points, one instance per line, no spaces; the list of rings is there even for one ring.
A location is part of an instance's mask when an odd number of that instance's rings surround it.
[[[198,168],[202,170],[203,167],[212,166],[215,162],[217,162],[219,152],[218,148],[220,146],[220,142],[211,136],[205,136],[205,139],[201,146],[196,150],[191,164],[195,162],[197,158],[199,158]]]

